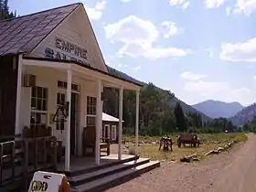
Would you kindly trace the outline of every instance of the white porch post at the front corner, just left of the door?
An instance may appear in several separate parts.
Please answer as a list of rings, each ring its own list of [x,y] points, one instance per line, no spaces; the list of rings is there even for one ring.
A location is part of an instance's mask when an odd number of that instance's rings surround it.
[[[72,71],[68,69],[68,82],[67,82],[67,103],[69,106],[69,116],[66,122],[66,144],[65,144],[65,170],[69,171],[70,168],[70,112],[71,112],[71,84],[72,84]]]

